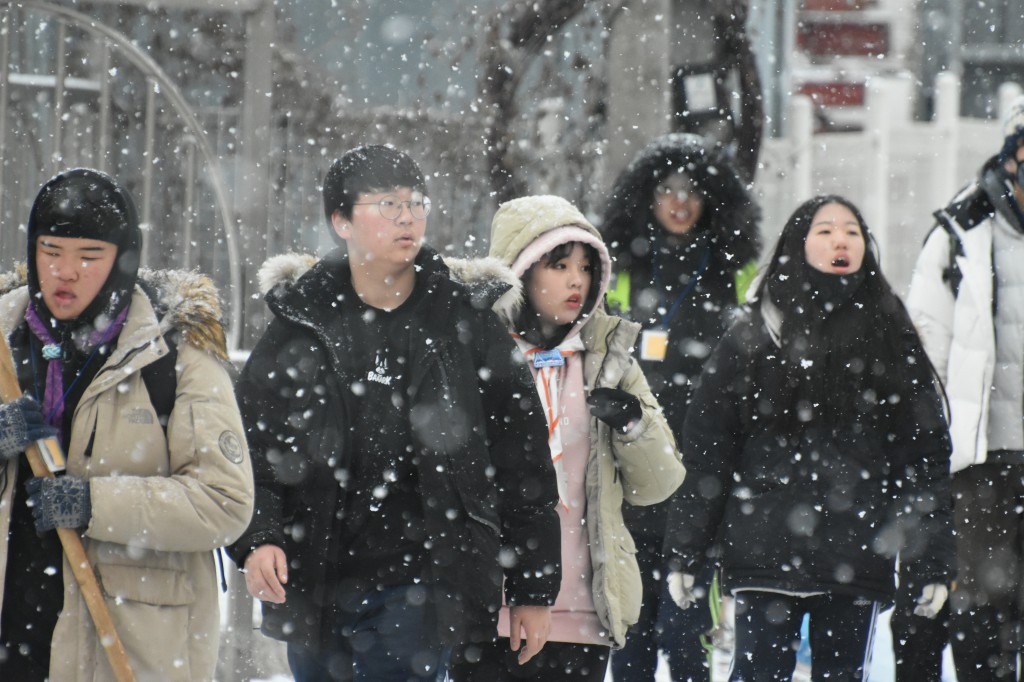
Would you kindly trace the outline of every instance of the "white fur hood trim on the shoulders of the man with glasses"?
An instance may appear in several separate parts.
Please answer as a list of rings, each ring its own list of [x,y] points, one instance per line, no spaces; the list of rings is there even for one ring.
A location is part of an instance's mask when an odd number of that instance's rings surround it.
[[[511,308],[522,304],[519,278],[497,258],[440,258],[452,280],[465,286],[474,303],[485,307]],[[278,287],[293,287],[319,258],[312,254],[291,252],[268,258],[259,268],[260,293],[266,295]]]

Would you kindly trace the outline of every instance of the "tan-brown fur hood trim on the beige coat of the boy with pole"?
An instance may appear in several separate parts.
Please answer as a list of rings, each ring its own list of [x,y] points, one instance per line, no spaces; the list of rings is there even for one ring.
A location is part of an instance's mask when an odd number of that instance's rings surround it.
[[[12,304],[9,296],[22,287],[28,287],[25,263],[18,263],[12,271],[0,273],[0,306]],[[175,332],[188,345],[227,359],[223,310],[217,288],[210,278],[189,270],[140,269],[136,287],[141,288],[153,303],[162,335]],[[6,316],[5,308],[0,307],[0,321]],[[11,332],[9,329],[4,331]]]

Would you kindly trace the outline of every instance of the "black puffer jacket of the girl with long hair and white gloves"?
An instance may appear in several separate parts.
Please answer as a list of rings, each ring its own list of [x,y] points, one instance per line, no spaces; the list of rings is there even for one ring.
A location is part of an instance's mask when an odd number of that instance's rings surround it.
[[[908,357],[919,352],[906,345]],[[919,584],[947,584],[949,438],[927,363],[908,361],[920,389],[904,391],[894,414],[790,433],[765,419],[753,388],[785,381],[781,355],[759,309],[709,359],[683,429],[687,477],[669,516],[670,566],[695,573],[720,544],[726,589],[887,601],[901,553]]]

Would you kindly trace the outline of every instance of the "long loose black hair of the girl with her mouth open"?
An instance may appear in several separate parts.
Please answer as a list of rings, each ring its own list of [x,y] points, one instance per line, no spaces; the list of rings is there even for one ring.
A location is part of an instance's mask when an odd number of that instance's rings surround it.
[[[827,204],[853,213],[865,245],[859,284],[830,311],[815,299],[813,268],[804,251],[814,216]],[[762,404],[770,406],[775,418],[793,425],[820,420],[836,425],[868,415],[895,415],[901,394],[918,390],[923,381],[938,383],[906,307],[882,273],[867,223],[842,197],[815,197],[794,211],[757,299],[782,314],[784,379],[758,387],[766,391]]]

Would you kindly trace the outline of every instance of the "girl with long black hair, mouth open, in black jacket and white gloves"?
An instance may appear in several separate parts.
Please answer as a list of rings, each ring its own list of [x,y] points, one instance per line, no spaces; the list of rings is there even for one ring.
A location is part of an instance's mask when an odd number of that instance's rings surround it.
[[[801,205],[687,413],[670,591],[721,562],[731,680],[791,679],[805,613],[815,679],[861,679],[897,554],[923,610],[953,574],[940,389],[870,243],[847,200]]]

